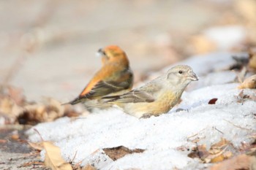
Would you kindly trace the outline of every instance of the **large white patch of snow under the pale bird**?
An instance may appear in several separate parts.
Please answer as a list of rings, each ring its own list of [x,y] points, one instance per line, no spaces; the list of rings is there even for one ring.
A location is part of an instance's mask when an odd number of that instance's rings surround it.
[[[241,90],[237,88],[238,83],[233,82],[236,74],[227,71],[233,63],[230,54],[195,56],[184,63],[192,66],[200,80],[189,85],[181,103],[167,114],[138,119],[124,114],[121,109],[110,108],[75,120],[62,117],[33,128],[43,139],[55,142],[67,161],[76,153],[75,162],[91,163],[97,169],[203,169],[206,164],[197,158],[189,158],[188,151],[177,148],[195,147],[195,143],[188,139],[194,134],[203,136],[198,144],[207,147],[222,137],[235,147],[241,142],[249,142],[249,134],[256,131],[255,115],[252,114],[256,102],[249,99],[243,104],[238,102]],[[256,90],[244,90],[246,95],[255,93]],[[211,98],[218,98],[216,104],[208,104]],[[176,112],[179,108],[184,110]],[[27,134],[31,142],[38,142],[40,137],[33,128]],[[145,151],[125,155],[116,161],[102,151],[121,145]]]

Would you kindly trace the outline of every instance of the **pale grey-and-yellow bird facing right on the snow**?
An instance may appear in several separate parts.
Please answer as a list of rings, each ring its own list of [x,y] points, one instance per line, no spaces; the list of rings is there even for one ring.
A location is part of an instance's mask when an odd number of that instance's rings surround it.
[[[103,97],[106,101],[91,107],[117,106],[125,113],[146,118],[159,116],[172,109],[181,98],[184,89],[198,77],[187,65],[173,66],[165,74],[127,93]]]

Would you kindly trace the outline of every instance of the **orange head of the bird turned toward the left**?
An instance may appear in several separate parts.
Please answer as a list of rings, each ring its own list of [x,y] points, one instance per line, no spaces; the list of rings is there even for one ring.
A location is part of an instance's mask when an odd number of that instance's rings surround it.
[[[102,57],[103,65],[107,63],[118,63],[129,66],[126,53],[116,45],[109,45],[105,48],[100,48],[98,50],[98,54]]]

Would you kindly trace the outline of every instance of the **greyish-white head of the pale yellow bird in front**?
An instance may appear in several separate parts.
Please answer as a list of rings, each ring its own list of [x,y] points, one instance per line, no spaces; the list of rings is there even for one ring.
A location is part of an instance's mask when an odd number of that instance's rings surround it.
[[[167,80],[175,83],[175,85],[184,85],[186,87],[189,82],[197,81],[198,77],[190,66],[178,65],[167,71]]]

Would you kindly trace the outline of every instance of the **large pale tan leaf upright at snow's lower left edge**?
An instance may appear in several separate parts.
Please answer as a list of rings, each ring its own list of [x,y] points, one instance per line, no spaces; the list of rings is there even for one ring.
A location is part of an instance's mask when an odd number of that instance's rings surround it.
[[[42,142],[45,148],[45,166],[53,170],[72,170],[72,166],[61,157],[61,150],[51,142]]]

